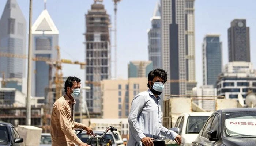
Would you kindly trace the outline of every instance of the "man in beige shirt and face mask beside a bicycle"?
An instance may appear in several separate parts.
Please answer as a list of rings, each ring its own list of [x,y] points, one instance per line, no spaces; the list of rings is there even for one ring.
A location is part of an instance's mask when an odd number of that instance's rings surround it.
[[[82,123],[74,121],[73,111],[75,98],[80,96],[81,80],[68,77],[65,82],[65,95],[55,101],[51,115],[52,146],[89,146],[82,142],[74,132],[74,128],[82,128],[87,134],[93,130]]]

